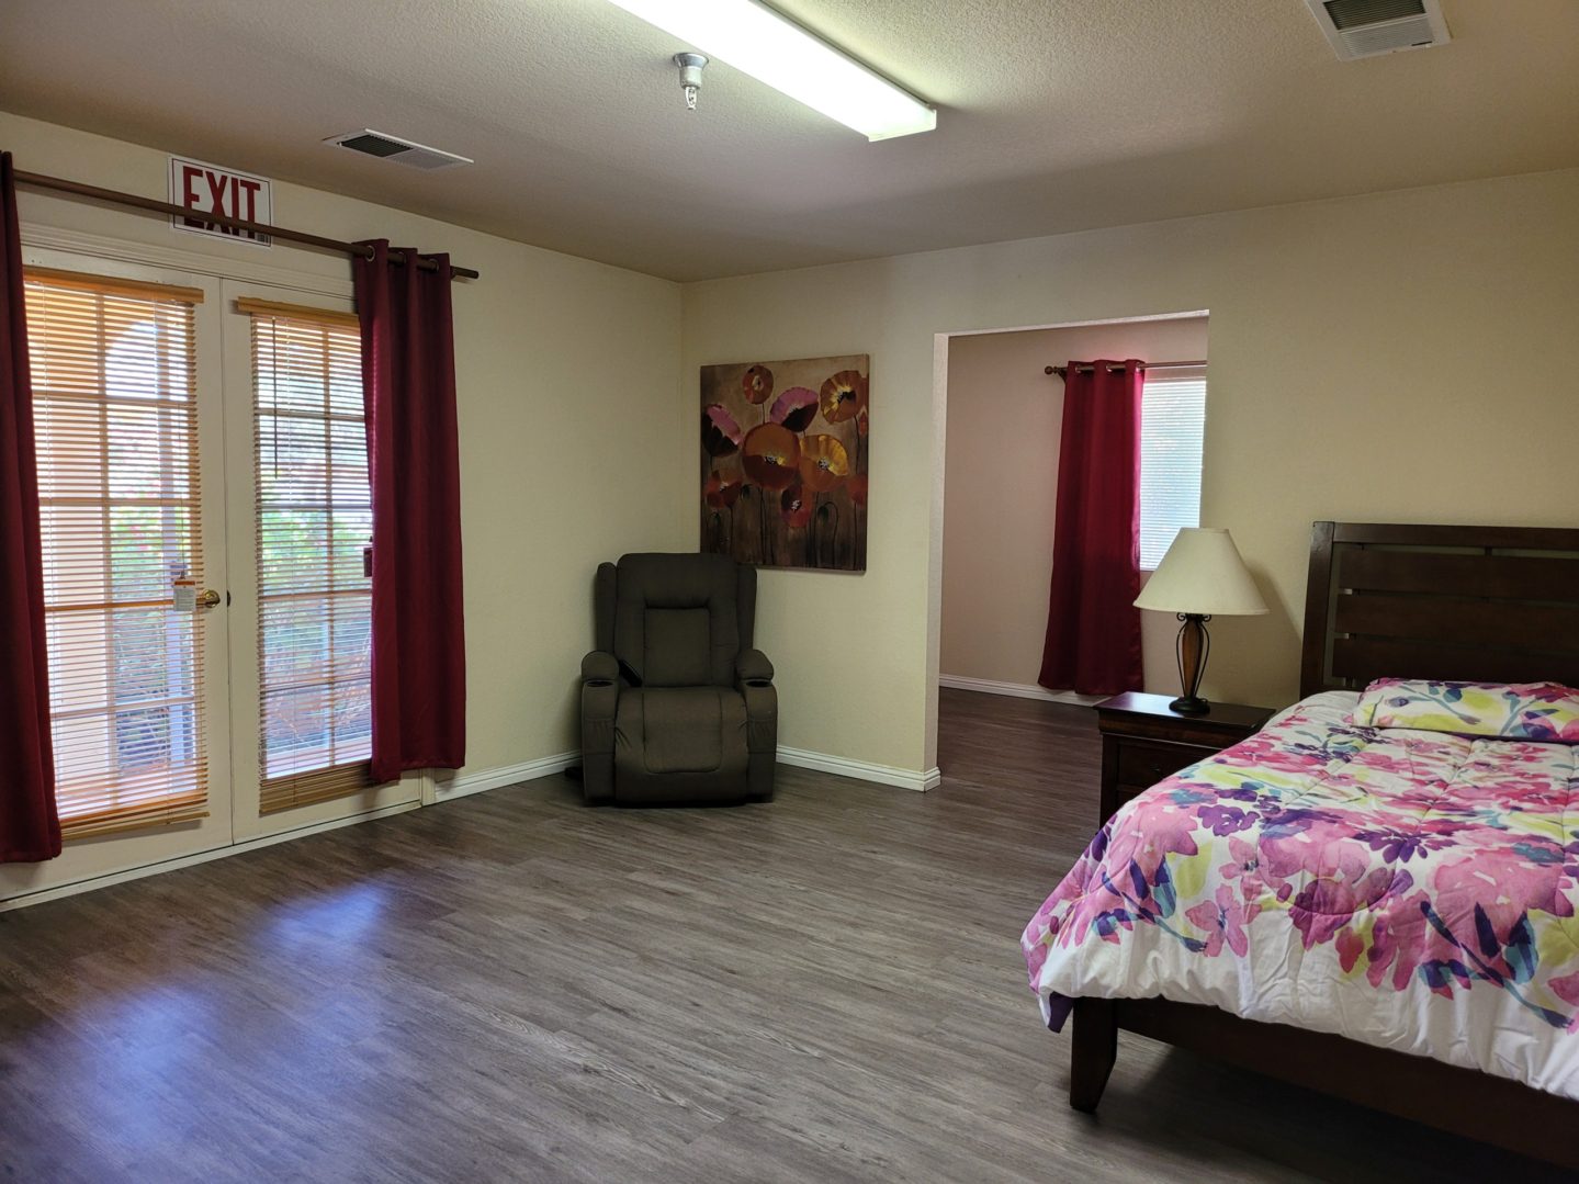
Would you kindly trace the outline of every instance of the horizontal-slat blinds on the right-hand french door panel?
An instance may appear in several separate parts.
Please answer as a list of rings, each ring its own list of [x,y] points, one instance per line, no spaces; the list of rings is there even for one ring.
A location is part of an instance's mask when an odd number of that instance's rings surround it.
[[[373,535],[362,338],[349,314],[253,317],[261,810],[371,785]]]

